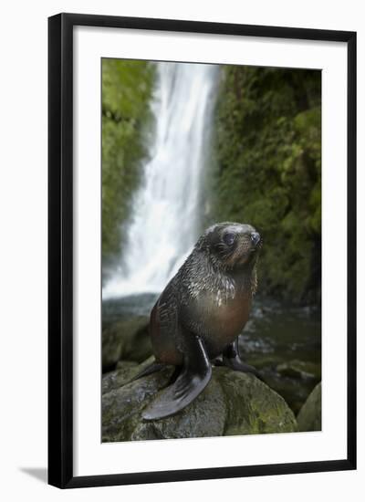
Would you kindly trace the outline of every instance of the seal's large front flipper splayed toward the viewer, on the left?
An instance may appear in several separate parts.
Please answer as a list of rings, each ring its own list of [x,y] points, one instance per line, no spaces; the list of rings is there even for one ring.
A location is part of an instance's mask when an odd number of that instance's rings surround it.
[[[203,340],[191,335],[184,341],[186,351],[183,358],[183,372],[143,411],[142,417],[145,420],[158,420],[180,412],[203,392],[212,377],[212,367]]]

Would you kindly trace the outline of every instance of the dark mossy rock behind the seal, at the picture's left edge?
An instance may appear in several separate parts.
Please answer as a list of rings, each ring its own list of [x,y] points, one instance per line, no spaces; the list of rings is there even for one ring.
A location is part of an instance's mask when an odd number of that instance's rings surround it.
[[[120,359],[141,362],[151,356],[152,348],[148,325],[149,318],[147,316],[136,316],[104,323],[102,332],[103,371],[108,370]]]

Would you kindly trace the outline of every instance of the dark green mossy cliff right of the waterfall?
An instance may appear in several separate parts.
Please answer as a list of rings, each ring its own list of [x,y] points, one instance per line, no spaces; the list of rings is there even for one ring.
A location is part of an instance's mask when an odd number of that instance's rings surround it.
[[[320,296],[320,71],[227,66],[214,118],[208,219],[264,237],[260,291]]]

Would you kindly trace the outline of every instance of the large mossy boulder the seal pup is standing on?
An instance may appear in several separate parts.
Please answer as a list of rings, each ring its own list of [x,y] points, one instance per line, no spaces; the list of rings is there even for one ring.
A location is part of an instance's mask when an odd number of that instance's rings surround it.
[[[104,376],[103,442],[297,431],[282,397],[254,375],[227,368],[214,368],[211,382],[182,412],[145,422],[141,411],[168,384],[173,368],[130,382],[141,368],[125,365]]]

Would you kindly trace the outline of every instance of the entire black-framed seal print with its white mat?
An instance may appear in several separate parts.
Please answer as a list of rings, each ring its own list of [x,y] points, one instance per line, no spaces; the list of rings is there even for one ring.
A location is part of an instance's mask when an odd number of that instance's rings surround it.
[[[49,483],[356,468],[356,34],[60,14],[48,63]]]

